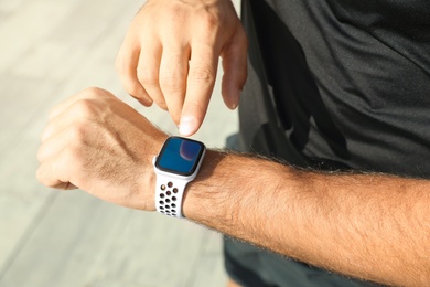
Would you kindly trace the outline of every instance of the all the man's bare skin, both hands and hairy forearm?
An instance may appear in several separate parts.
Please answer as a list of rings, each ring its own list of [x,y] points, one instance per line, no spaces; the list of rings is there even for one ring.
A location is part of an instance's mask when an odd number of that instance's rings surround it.
[[[229,108],[237,106],[246,49],[229,0],[149,0],[131,23],[117,68],[130,95],[169,110],[189,136],[204,119],[219,56],[223,98]],[[109,92],[89,88],[52,111],[37,152],[37,178],[51,188],[79,188],[154,211],[151,161],[165,138]],[[186,189],[183,213],[329,270],[424,286],[430,281],[429,190],[427,180],[319,173],[209,150]]]

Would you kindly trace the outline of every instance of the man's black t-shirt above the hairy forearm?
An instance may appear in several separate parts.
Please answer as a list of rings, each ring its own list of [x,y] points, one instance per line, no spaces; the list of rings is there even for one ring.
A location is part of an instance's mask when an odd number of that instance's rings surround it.
[[[243,150],[430,177],[430,1],[244,0]]]

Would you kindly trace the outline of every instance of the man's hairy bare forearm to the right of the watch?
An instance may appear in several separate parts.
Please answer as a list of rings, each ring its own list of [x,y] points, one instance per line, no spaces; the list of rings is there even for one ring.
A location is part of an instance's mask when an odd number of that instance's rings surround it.
[[[327,174],[209,151],[190,220],[307,263],[385,284],[430,281],[430,181]]]

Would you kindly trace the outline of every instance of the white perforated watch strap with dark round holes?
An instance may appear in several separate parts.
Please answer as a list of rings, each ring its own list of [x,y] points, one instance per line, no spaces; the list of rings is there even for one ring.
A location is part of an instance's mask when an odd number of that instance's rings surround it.
[[[182,199],[184,196],[186,183],[186,181],[157,174],[157,211],[172,217],[183,217]]]

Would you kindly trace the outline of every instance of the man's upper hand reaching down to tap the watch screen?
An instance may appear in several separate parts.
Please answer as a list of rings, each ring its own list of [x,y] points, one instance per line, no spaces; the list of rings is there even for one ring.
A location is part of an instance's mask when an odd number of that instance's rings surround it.
[[[117,59],[127,92],[169,110],[183,136],[197,131],[223,59],[222,94],[238,105],[246,81],[247,38],[230,0],[148,0]]]

